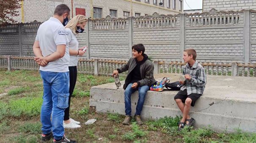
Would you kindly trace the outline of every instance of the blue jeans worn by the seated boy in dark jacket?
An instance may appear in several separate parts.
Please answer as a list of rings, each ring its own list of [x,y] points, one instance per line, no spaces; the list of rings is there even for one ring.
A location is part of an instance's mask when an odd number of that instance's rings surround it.
[[[139,90],[139,99],[138,99],[138,103],[136,106],[135,115],[141,114],[143,104],[145,101],[145,96],[146,96],[147,91],[149,90],[149,86],[144,85],[142,87],[139,87],[138,90]],[[131,95],[135,91],[136,91],[136,89],[132,88],[132,83],[130,83],[124,91],[125,114],[127,116],[132,116]]]

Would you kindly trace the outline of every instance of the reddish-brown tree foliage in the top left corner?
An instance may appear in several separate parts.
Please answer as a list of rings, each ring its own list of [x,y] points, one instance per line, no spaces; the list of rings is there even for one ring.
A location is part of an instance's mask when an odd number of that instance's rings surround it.
[[[17,22],[12,17],[19,16],[17,9],[21,8],[22,0],[0,0],[0,24]]]

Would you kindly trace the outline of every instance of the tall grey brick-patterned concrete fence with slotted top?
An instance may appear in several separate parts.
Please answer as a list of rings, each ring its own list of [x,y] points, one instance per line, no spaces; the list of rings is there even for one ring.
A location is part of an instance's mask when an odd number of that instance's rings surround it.
[[[0,55],[33,56],[33,42],[40,23],[0,27]],[[211,11],[89,19],[77,37],[88,45],[83,58],[127,61],[132,45],[143,43],[153,61],[182,61],[188,48],[200,62],[256,63],[256,11]]]

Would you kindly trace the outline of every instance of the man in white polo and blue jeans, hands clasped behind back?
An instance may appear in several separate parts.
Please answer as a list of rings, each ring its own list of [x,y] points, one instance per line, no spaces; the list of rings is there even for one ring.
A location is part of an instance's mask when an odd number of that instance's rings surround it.
[[[67,5],[58,5],[53,17],[39,26],[33,45],[44,84],[41,142],[50,140],[53,134],[53,143],[76,143],[65,138],[63,128],[64,110],[69,106],[69,40],[64,28],[69,15]]]

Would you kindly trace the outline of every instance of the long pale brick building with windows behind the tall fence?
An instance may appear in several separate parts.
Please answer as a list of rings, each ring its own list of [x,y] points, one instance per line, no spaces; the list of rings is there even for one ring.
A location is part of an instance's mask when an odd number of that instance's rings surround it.
[[[106,16],[126,18],[159,14],[183,13],[183,0],[24,0],[18,22],[46,21],[55,7],[65,3],[72,10],[71,17],[82,14],[91,18]]]

